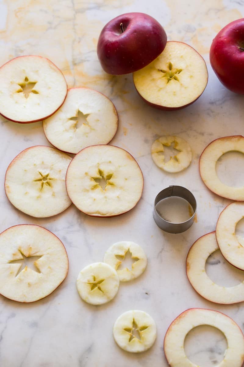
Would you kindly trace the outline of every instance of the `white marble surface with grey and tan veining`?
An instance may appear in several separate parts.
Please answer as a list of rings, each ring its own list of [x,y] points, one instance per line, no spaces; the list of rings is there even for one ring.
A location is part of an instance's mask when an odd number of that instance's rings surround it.
[[[242,303],[225,306],[208,302],[196,294],[185,275],[189,247],[215,229],[219,213],[230,203],[204,186],[198,159],[213,139],[243,134],[244,97],[226,90],[209,63],[211,40],[224,25],[243,17],[243,6],[243,0],[0,0],[0,64],[18,55],[42,55],[63,71],[69,87],[91,87],[111,98],[120,119],[112,144],[136,158],[145,182],[139,204],[121,217],[91,218],[71,206],[53,218],[31,218],[5,197],[4,174],[21,150],[49,144],[41,122],[21,125],[0,119],[0,231],[23,223],[44,226],[63,241],[70,261],[67,279],[42,301],[28,305],[0,298],[0,366],[166,367],[165,332],[179,313],[192,307],[224,312],[244,331]],[[96,54],[99,33],[111,18],[129,11],[152,15],[165,27],[169,40],[189,43],[203,55],[209,83],[193,105],[175,112],[154,110],[139,98],[131,75],[109,76],[102,71]],[[151,159],[152,142],[165,134],[179,135],[192,147],[191,166],[179,174],[161,171]],[[234,153],[223,158],[220,175],[232,184],[243,182],[243,162],[243,157]],[[172,183],[186,186],[198,202],[194,225],[179,235],[162,232],[152,217],[155,195]],[[119,240],[135,241],[144,248],[146,271],[137,280],[121,284],[112,302],[85,304],[75,287],[78,272],[91,262],[102,261],[106,249]],[[226,282],[233,278],[234,283],[244,279],[243,273],[222,265],[222,259],[208,264],[213,278],[218,274],[223,282],[225,275]],[[148,312],[157,324],[153,348],[139,355],[121,350],[112,336],[113,323],[129,309]],[[201,367],[215,366],[226,346],[223,335],[206,327],[192,333],[186,341],[188,356]]]

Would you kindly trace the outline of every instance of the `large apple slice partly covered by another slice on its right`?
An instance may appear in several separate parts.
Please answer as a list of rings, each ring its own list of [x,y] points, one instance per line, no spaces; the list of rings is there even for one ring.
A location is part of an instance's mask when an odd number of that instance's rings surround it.
[[[20,211],[37,218],[52,217],[71,205],[65,174],[71,157],[50,146],[31,146],[7,168],[5,192]]]

